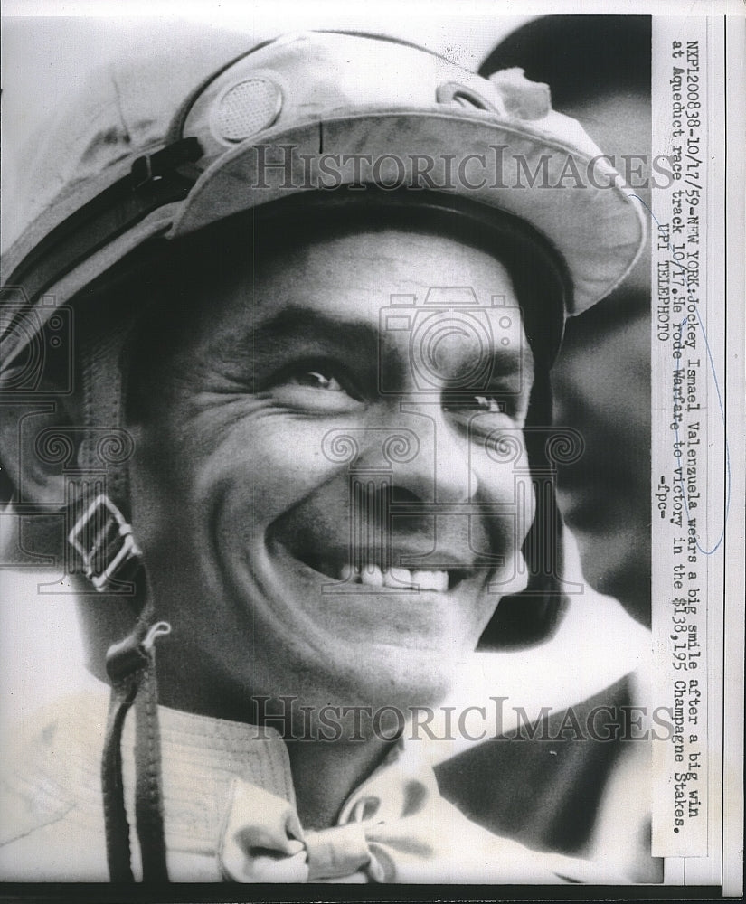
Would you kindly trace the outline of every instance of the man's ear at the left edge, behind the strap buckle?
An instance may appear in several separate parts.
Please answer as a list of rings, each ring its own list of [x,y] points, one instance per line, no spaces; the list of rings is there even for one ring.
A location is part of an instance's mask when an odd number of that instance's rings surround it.
[[[80,412],[70,397],[43,395],[1,404],[0,413],[2,501],[61,509],[66,472],[76,465],[84,438]]]

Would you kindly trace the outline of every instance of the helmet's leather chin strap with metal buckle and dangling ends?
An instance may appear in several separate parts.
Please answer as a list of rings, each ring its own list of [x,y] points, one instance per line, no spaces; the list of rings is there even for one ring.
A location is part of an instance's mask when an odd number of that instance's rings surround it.
[[[102,424],[116,431],[110,436],[120,441],[124,436],[119,425],[124,398],[119,362],[125,338],[122,332],[110,336],[103,351],[99,347],[93,353],[89,348],[85,355],[85,420],[90,433],[80,447],[79,461],[84,470],[90,468],[92,476],[77,478],[79,517],[68,540],[93,587],[126,595],[137,617],[130,633],[112,644],[106,654],[111,696],[101,786],[109,876],[112,882],[135,880],[122,772],[122,735],[127,712],[134,708],[135,825],[142,878],[144,882],[167,882],[155,642],[170,633],[171,626],[156,620],[146,566],[127,520],[128,456],[109,465],[102,481],[101,440],[96,441]]]

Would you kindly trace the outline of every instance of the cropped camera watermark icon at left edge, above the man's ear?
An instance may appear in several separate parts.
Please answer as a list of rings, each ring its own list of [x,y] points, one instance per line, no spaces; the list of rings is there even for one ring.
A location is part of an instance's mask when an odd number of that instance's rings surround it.
[[[69,395],[73,390],[72,308],[52,295],[30,306],[21,287],[0,290],[0,392]]]

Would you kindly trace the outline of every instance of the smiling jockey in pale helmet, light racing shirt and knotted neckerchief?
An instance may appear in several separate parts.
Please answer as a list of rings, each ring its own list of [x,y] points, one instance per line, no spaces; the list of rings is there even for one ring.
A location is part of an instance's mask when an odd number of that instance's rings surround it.
[[[21,742],[3,874],[600,880],[470,823],[402,739],[480,638],[562,619],[548,374],[637,209],[576,183],[600,152],[518,71],[216,43],[160,106],[130,72],[63,123],[5,264],[18,548],[68,539],[100,684]]]

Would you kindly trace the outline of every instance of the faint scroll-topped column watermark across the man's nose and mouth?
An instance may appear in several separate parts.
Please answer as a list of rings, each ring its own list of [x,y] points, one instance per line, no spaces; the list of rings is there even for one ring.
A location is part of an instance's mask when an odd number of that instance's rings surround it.
[[[488,574],[487,592],[500,596],[515,593],[519,585],[524,589],[529,576],[541,576],[556,579],[557,592],[581,593],[581,584],[562,577],[562,528],[552,516],[557,466],[582,456],[581,434],[569,428],[518,426],[488,432],[477,415],[469,425],[469,437],[474,434],[477,440],[469,441],[464,452],[466,492],[463,499],[445,499],[438,493],[437,456],[423,452],[426,448],[437,450],[437,425],[427,414],[420,412],[420,417],[424,429],[432,431],[430,435],[399,425],[334,428],[326,433],[322,453],[330,462],[345,465],[347,471],[349,569],[341,579],[325,584],[323,592],[345,593],[352,585],[361,593],[395,592],[412,589],[412,582],[421,579],[417,572],[452,571],[453,561],[439,550],[441,530],[448,526],[446,532],[456,532],[460,538],[464,558],[460,570]],[[530,460],[527,438],[532,447],[541,447],[537,460]],[[485,466],[499,481],[495,497],[478,492],[476,473]],[[428,481],[421,479],[422,471],[432,469],[428,492],[407,490],[411,484],[406,469],[410,467],[419,473],[423,490]],[[473,542],[475,532],[484,535],[484,525],[489,525],[487,532],[501,537],[495,549]],[[414,552],[408,547],[413,526],[420,541],[423,536],[429,538],[429,551],[420,547]],[[524,549],[529,528],[530,551]],[[366,570],[370,572],[367,578]],[[379,571],[381,580],[376,583]],[[445,581],[443,574],[438,579]],[[438,579],[431,573],[427,577],[436,583]],[[359,589],[358,584],[362,584]]]

